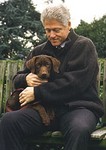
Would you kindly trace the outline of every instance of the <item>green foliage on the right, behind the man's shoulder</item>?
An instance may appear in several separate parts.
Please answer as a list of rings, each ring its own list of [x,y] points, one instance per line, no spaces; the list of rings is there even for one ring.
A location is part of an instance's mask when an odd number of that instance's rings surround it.
[[[106,15],[91,24],[81,20],[75,29],[77,33],[89,37],[95,44],[100,58],[106,57]]]

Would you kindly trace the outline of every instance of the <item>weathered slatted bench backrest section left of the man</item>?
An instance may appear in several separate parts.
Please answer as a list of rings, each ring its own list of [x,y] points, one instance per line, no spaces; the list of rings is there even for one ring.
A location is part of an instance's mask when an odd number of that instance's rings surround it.
[[[6,100],[12,91],[13,76],[22,70],[23,64],[21,60],[0,60],[0,114],[5,111]]]

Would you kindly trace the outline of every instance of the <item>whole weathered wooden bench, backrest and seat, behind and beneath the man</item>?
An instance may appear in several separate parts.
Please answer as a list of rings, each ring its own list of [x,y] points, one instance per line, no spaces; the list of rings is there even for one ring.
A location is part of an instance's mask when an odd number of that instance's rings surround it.
[[[97,87],[105,108],[101,123],[91,134],[88,150],[106,150],[106,60],[99,59]],[[5,113],[5,104],[12,91],[12,78],[17,71],[22,70],[21,60],[0,60],[0,115]],[[37,139],[25,139],[31,150],[64,150],[64,139],[60,131],[47,132]]]

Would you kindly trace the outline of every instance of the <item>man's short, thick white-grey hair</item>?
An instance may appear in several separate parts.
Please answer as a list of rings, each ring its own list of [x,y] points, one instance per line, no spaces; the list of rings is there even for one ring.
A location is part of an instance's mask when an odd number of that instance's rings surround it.
[[[63,5],[48,5],[41,13],[41,21],[44,23],[45,20],[56,19],[64,26],[66,26],[70,20],[70,12],[69,9]]]

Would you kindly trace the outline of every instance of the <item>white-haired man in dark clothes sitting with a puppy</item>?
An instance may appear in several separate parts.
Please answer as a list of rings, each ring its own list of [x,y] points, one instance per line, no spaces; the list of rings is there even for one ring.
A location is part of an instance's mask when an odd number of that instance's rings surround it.
[[[23,139],[60,129],[65,150],[87,150],[90,134],[95,129],[103,107],[97,94],[97,53],[92,41],[77,35],[71,28],[69,10],[63,5],[48,6],[41,14],[47,42],[30,52],[46,54],[60,60],[60,73],[54,80],[43,82],[26,68],[14,77],[21,106],[33,101],[52,105],[55,120],[45,126],[39,113],[31,108],[9,112],[0,125],[0,149],[25,150]],[[26,60],[26,61],[27,61]]]

